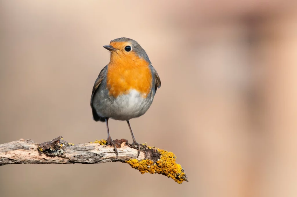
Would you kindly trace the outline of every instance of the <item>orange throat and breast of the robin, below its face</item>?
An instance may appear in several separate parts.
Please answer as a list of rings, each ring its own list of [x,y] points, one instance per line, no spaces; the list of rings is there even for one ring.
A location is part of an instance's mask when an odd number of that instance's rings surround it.
[[[152,88],[149,63],[135,56],[120,57],[118,54],[112,56],[107,70],[109,95],[117,97],[129,93],[130,89],[135,89],[146,98]]]

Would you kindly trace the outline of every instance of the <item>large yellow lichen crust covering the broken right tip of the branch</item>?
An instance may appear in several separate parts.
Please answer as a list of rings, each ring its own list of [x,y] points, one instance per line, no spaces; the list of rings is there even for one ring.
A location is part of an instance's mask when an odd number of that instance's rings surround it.
[[[172,152],[149,146],[147,146],[147,148],[156,149],[161,154],[160,159],[156,162],[149,159],[144,159],[141,161],[138,161],[137,159],[131,159],[126,161],[126,163],[129,163],[132,168],[139,170],[141,174],[146,172],[151,174],[164,174],[179,184],[181,184],[183,181],[187,181],[187,177],[183,168],[181,165],[175,162],[176,156]]]

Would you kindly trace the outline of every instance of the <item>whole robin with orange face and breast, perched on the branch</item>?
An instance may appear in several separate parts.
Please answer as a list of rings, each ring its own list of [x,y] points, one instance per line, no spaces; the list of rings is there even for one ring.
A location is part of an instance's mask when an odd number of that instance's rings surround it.
[[[135,140],[129,120],[149,109],[161,81],[145,50],[135,40],[117,38],[103,47],[110,51],[110,62],[101,70],[93,87],[93,118],[106,123],[107,145],[114,147],[117,157],[118,151],[109,135],[108,119],[127,121],[132,147],[138,146],[139,156],[140,144]]]

